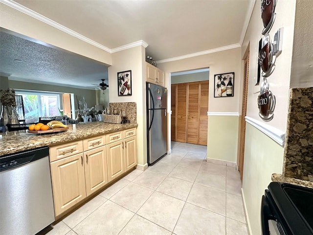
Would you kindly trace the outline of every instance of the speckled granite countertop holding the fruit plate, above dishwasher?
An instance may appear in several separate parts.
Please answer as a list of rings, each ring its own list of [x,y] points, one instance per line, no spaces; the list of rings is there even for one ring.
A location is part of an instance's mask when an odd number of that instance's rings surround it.
[[[31,134],[26,131],[12,131],[0,134],[0,156],[34,149],[53,146],[70,141],[108,134],[116,131],[137,127],[138,124],[113,124],[105,122],[89,122],[67,125],[68,130],[54,134]]]

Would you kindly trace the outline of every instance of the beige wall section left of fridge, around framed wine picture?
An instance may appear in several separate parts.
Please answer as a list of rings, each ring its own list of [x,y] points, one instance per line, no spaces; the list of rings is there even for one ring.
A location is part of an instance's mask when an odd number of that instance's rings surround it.
[[[138,164],[147,164],[146,131],[146,82],[145,82],[145,48],[133,47],[112,54],[112,66],[109,67],[110,102],[137,103],[137,153]],[[118,96],[117,72],[132,71],[132,95]]]

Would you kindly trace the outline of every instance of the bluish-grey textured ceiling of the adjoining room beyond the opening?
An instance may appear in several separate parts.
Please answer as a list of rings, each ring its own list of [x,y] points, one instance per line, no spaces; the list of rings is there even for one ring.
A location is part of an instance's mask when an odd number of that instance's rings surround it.
[[[13,80],[71,87],[89,87],[108,79],[107,66],[98,61],[3,31],[0,31],[0,72],[10,74]]]

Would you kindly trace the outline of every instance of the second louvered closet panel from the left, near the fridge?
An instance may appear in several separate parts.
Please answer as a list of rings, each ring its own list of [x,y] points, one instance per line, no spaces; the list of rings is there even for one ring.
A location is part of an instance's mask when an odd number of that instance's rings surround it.
[[[176,141],[186,142],[187,133],[187,83],[177,84]]]

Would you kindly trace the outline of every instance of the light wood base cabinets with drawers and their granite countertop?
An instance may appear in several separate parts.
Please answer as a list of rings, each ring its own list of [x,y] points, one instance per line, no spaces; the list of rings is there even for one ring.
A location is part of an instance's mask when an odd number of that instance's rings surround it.
[[[54,213],[59,219],[137,165],[136,123],[89,122],[55,134],[0,135],[0,156],[49,147]]]

